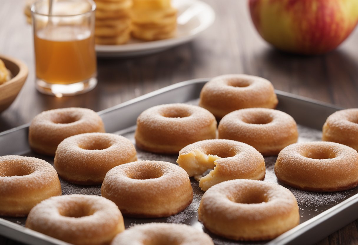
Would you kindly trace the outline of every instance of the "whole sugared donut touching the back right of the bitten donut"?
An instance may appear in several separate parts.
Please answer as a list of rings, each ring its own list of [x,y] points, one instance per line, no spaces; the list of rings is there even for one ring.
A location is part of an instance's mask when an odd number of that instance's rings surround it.
[[[218,132],[219,139],[252,145],[264,156],[279,154],[298,138],[296,122],[289,114],[266,108],[233,111],[221,119]]]

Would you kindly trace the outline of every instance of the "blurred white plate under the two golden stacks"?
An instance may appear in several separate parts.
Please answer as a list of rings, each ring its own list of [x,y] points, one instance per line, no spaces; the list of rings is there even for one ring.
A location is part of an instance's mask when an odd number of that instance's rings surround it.
[[[173,0],[178,9],[178,31],[174,38],[144,42],[131,39],[122,45],[96,45],[98,57],[129,57],[156,53],[192,40],[215,19],[214,10],[199,0]]]

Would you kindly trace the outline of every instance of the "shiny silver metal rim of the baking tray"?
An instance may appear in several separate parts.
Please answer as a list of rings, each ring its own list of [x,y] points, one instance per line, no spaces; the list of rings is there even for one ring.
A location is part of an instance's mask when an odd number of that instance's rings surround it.
[[[99,115],[104,115],[107,112],[111,112],[113,110],[117,110],[119,108],[131,105],[131,104],[135,104],[136,102],[140,102],[142,100],[145,100],[145,99],[148,99],[148,98],[151,98],[151,97],[154,97],[154,96],[158,96],[158,95],[163,94],[165,92],[175,90],[175,89],[180,88],[180,87],[196,84],[196,83],[204,83],[204,82],[209,81],[210,79],[211,78],[197,78],[197,79],[193,79],[193,80],[187,80],[187,81],[175,83],[173,85],[169,85],[169,86],[160,88],[158,90],[149,92],[149,93],[147,93],[145,95],[141,95],[141,96],[136,97],[134,99],[125,101],[125,102],[123,102],[121,104],[118,104],[118,105],[109,107],[107,109],[101,110],[101,111],[99,111],[97,113]],[[295,94],[280,91],[280,90],[275,90],[275,93],[278,94],[278,95],[281,95],[281,96],[294,98],[294,99],[297,99],[297,100],[313,103],[313,104],[316,104],[316,105],[330,107],[332,109],[337,109],[337,110],[343,109],[342,107],[335,106],[335,105],[332,105],[332,104],[329,104],[329,103],[326,103],[326,102],[318,101],[318,100],[315,100],[315,99],[310,99],[310,98],[307,98],[307,97],[303,97],[303,96],[300,96],[300,95],[295,95]],[[18,127],[15,127],[15,128],[0,132],[0,137],[3,136],[3,135],[6,135],[6,134],[12,133],[14,131],[17,131],[17,130],[28,128],[29,125],[30,125],[30,123],[27,123],[27,124],[23,124],[23,125],[20,125]],[[297,225],[296,227],[294,227],[291,230],[285,232],[284,234],[276,237],[275,239],[273,239],[271,241],[268,241],[266,243],[266,245],[287,244],[290,241],[293,241],[296,237],[299,237],[300,235],[304,234],[306,231],[312,229],[313,227],[316,227],[318,224],[322,223],[323,221],[328,220],[329,218],[332,218],[338,212],[340,212],[342,210],[345,210],[348,207],[353,207],[353,205],[358,205],[358,194],[355,194],[354,196],[347,198],[346,200],[334,205],[333,207],[323,211],[322,213],[319,213],[315,217],[312,217],[309,220]],[[355,217],[354,220],[355,219],[357,219],[357,217]],[[345,224],[348,224],[348,222],[346,222]],[[44,234],[39,233],[37,231],[27,229],[27,228],[25,228],[25,227],[23,227],[21,225],[15,224],[14,222],[5,220],[3,218],[0,218],[0,228],[1,227],[16,230],[18,232],[21,232],[21,233],[25,234],[26,236],[34,236],[34,237],[36,237],[38,239],[41,239],[44,242],[43,244],[48,244],[46,242],[52,242],[52,244],[68,245],[67,242],[64,242],[64,241],[55,239],[53,237],[44,235]],[[3,233],[0,233],[0,235],[5,236],[5,237],[9,237],[10,239],[13,239],[13,240],[26,242],[26,240],[25,240],[26,237],[24,237],[23,239],[17,239],[17,238],[13,238],[12,236],[7,236],[6,234],[3,234]]]

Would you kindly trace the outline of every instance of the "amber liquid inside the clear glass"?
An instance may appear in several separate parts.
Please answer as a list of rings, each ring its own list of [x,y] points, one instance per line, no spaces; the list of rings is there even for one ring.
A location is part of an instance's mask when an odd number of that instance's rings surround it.
[[[34,43],[36,75],[45,82],[71,84],[95,75],[95,39],[87,28],[45,27]]]

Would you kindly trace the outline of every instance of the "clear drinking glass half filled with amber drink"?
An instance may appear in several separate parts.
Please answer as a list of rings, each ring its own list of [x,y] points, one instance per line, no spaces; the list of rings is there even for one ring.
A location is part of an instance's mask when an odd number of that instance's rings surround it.
[[[53,0],[52,9],[49,0],[32,5],[37,90],[62,97],[97,85],[95,9],[92,0]]]

